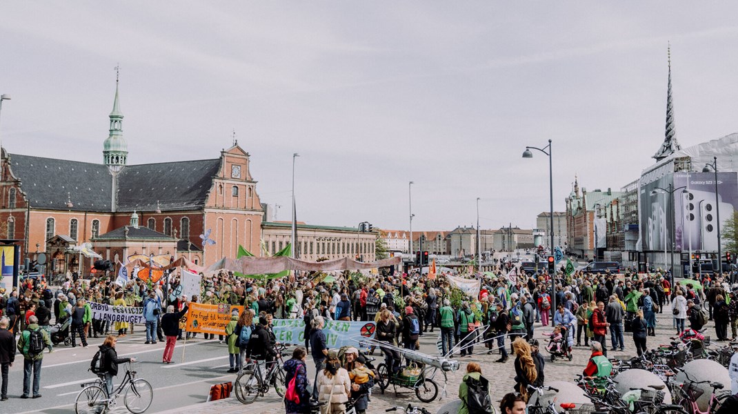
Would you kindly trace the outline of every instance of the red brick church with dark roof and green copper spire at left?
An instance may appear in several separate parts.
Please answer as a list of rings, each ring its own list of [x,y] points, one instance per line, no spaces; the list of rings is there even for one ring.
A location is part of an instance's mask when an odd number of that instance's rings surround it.
[[[0,238],[20,244],[21,261],[45,252],[47,274],[75,272],[74,248],[88,243],[110,261],[153,253],[208,265],[239,244],[260,254],[263,209],[238,142],[218,158],[128,165],[117,81],[109,117],[101,164],[1,150]],[[205,230],[215,244],[203,249]]]

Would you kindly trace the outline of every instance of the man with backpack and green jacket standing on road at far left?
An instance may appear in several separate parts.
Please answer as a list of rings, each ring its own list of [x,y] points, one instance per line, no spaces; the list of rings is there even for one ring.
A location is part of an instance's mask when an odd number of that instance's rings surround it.
[[[18,352],[23,354],[23,395],[21,399],[30,398],[31,375],[33,376],[33,398],[38,399],[41,394],[41,362],[44,361],[44,348],[52,352],[52,342],[46,331],[38,326],[38,317],[28,318],[29,325],[21,332],[18,339]]]

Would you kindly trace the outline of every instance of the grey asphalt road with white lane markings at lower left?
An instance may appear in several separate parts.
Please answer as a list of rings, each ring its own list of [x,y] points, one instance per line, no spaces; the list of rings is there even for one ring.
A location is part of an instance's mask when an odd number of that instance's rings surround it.
[[[228,370],[227,345],[219,344],[218,337],[213,340],[201,339],[178,341],[174,350],[173,363],[162,364],[165,342],[145,345],[144,329],[138,328],[136,334],[120,338],[117,342],[118,356],[135,356],[133,365],[137,378],[146,379],[154,387],[154,401],[147,413],[172,410],[177,407],[203,402],[207,399],[210,385],[232,381],[235,374]],[[52,353],[44,353],[41,368],[41,398],[21,399],[23,391],[23,356],[16,354],[15,363],[10,368],[8,401],[0,402],[0,413],[74,413],[74,402],[83,382],[96,377],[89,372],[92,356],[103,339],[91,339],[89,347],[65,347],[63,344]],[[118,384],[125,374],[121,365]],[[123,406],[123,398],[113,413],[128,413]]]

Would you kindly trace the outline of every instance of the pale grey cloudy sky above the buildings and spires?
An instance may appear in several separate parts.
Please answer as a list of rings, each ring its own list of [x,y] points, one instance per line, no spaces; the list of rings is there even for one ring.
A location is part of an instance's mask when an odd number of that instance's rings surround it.
[[[738,131],[738,5],[692,2],[4,1],[0,136],[102,162],[120,62],[128,162],[252,156],[263,202],[311,224],[533,227],[575,173],[636,179],[663,141]],[[717,3],[714,3],[717,4]]]

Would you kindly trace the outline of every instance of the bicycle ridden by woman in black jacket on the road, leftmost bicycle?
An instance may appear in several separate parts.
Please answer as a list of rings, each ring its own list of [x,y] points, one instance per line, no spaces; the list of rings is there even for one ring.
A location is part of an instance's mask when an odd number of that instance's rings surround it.
[[[105,384],[105,374],[97,374],[97,380],[86,382],[81,385],[82,391],[75,400],[75,413],[77,414],[101,414],[115,406],[116,400],[123,390],[125,394],[123,401],[125,408],[131,413],[141,414],[151,407],[154,399],[154,388],[145,379],[137,379],[136,371],[132,370],[132,363],[127,362],[123,382],[114,388],[113,395],[108,394]]]

